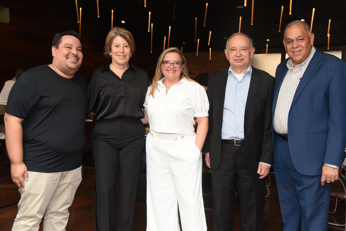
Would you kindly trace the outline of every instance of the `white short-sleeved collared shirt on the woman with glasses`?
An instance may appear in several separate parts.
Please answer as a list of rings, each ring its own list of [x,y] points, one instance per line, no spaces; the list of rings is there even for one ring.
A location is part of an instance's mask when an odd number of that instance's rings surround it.
[[[157,82],[153,98],[148,88],[144,109],[148,112],[150,129],[160,133],[194,134],[193,117],[208,116],[209,101],[206,90],[197,82],[181,79],[170,87]]]

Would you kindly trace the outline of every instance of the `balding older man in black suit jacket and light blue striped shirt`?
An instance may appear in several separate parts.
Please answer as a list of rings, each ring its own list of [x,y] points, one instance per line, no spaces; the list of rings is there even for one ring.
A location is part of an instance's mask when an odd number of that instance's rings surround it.
[[[250,65],[255,52],[243,33],[230,36],[225,54],[230,67],[210,74],[209,131],[204,143],[211,168],[213,229],[233,230],[235,182],[242,230],[262,230],[265,177],[273,164],[274,78]]]

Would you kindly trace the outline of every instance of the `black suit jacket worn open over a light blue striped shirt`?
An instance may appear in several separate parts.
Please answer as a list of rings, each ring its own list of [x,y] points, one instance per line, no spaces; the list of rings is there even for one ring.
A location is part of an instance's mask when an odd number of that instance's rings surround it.
[[[210,152],[210,167],[217,169],[221,156],[221,127],[228,69],[209,75],[209,131],[203,152]],[[244,115],[246,165],[256,174],[258,162],[273,164],[272,104],[275,80],[265,71],[252,67]]]

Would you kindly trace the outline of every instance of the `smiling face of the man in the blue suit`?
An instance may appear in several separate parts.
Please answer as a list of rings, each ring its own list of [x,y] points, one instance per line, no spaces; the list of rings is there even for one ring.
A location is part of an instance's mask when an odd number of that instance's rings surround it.
[[[293,67],[304,62],[309,57],[314,38],[315,35],[309,35],[301,24],[286,28],[283,44],[286,53],[293,61]]]

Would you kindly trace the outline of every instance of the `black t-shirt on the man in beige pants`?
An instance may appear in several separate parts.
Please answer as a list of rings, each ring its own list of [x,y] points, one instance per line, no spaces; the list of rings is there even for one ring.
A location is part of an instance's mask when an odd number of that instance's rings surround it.
[[[8,97],[6,113],[24,119],[24,163],[29,171],[62,172],[82,165],[86,86],[76,73],[58,75],[48,65],[21,74]]]

